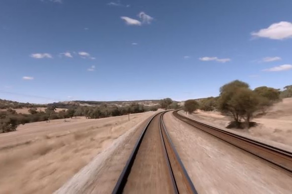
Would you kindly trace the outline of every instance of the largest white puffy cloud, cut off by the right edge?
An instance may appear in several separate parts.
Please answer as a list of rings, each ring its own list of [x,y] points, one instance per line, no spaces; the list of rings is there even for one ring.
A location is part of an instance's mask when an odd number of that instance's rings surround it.
[[[258,32],[252,32],[251,35],[253,37],[269,38],[274,40],[292,38],[292,23],[285,21],[274,23],[268,28],[261,29]]]

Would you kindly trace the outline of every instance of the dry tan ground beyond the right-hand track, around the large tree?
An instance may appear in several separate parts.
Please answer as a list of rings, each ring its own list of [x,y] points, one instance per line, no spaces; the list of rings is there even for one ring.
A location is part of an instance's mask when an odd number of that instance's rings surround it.
[[[180,111],[180,114],[186,116],[183,111]],[[266,115],[254,118],[253,121],[258,123],[258,126],[248,130],[226,129],[232,119],[217,111],[198,110],[188,116],[208,125],[292,151],[292,98],[284,98],[282,102],[272,106]]]

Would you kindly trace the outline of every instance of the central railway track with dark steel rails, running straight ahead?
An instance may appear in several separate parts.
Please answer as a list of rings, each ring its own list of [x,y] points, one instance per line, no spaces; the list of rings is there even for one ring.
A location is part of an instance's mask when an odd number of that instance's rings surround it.
[[[113,194],[197,194],[163,123],[163,114],[147,123]]]

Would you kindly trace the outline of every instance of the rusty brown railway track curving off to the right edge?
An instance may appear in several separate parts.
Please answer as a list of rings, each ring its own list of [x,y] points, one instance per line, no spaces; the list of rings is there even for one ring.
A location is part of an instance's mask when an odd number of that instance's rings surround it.
[[[239,147],[289,172],[292,172],[292,152],[192,120],[188,117],[180,115],[178,110],[173,111],[173,115],[197,129],[200,129],[219,138],[220,140],[223,140],[231,145],[235,145],[236,147]]]

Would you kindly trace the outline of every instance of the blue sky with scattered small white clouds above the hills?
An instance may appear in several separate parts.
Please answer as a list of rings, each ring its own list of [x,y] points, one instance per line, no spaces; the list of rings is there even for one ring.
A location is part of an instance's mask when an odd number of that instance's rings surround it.
[[[292,84],[291,0],[0,0],[0,98],[185,100]]]

